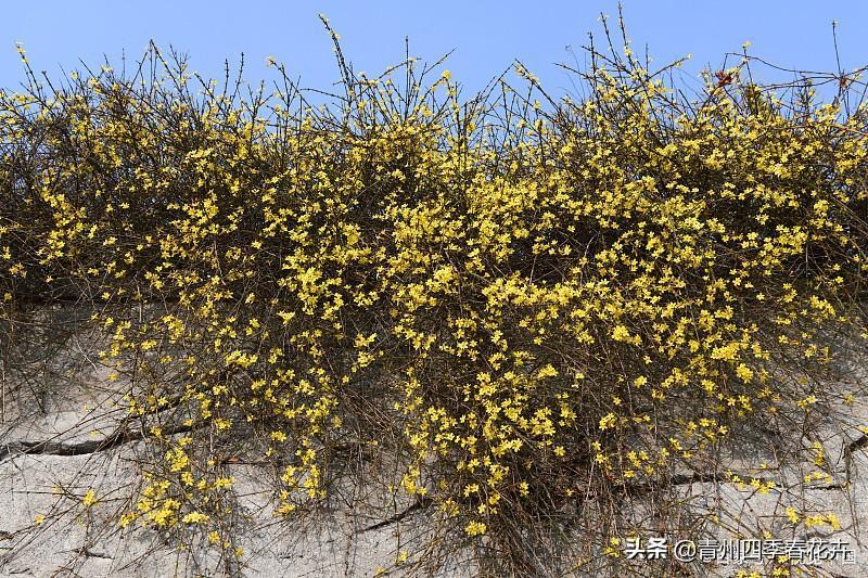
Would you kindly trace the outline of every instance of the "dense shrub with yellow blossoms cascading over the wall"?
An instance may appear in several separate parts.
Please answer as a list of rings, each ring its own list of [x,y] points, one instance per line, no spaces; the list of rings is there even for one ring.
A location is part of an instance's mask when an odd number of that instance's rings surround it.
[[[290,522],[347,483],[403,500],[434,532],[405,564],[576,570],[620,563],[636,498],[672,529],[684,480],[775,489],[714,470],[757,431],[814,460],[796,424],[852,400],[824,380],[866,337],[864,106],[750,57],[694,98],[591,50],[580,100],[522,66],[462,100],[337,54],[322,107],[155,47],[0,98],[3,312],[111,336],[153,450],[120,526],[241,556],[246,461]]]

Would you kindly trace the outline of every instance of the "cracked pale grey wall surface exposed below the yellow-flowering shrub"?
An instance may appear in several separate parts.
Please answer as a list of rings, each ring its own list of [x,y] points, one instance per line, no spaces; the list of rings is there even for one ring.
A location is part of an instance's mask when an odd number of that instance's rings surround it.
[[[375,576],[396,565],[403,552],[424,547],[423,514],[406,514],[407,504],[394,504],[394,515],[356,508],[349,488],[334,500],[327,518],[308,527],[278,522],[270,510],[268,471],[257,464],[233,466],[239,508],[244,523],[238,527],[237,545],[243,548],[241,566],[227,567],[203,554],[206,550],[178,551],[148,530],[123,530],[112,515],[131,494],[137,465],[148,459],[146,448],[135,436],[117,438],[125,416],[125,383],[112,381],[108,371],[93,362],[80,343],[67,342],[68,351],[53,354],[41,383],[18,384],[5,396],[0,426],[0,576],[14,577],[163,577],[220,576]],[[68,358],[61,361],[59,357]],[[73,361],[69,361],[73,359]],[[77,361],[75,361],[77,360]],[[854,377],[863,381],[860,374]],[[65,376],[65,378],[64,378]],[[845,389],[854,389],[846,384]],[[858,385],[858,384],[855,384]],[[680,480],[675,491],[690,499],[714,526],[720,541],[753,530],[774,530],[777,539],[846,542],[853,563],[843,560],[813,567],[819,576],[868,576],[868,441],[860,429],[868,423],[868,404],[857,400],[850,418],[825,427],[825,460],[831,479],[805,484],[813,470],[775,471],[779,480],[771,491],[757,491],[715,480]],[[108,440],[108,441],[106,441]],[[774,452],[773,452],[774,453]],[[745,448],[729,455],[718,471],[762,472],[774,455]],[[782,481],[782,483],[780,483]],[[100,497],[93,508],[82,509],[89,489]],[[366,500],[369,502],[369,500]],[[642,516],[641,499],[625,499],[625,509]],[[814,509],[834,513],[837,522],[781,524],[786,511]],[[405,514],[401,514],[404,512]],[[652,517],[652,516],[651,516]],[[107,522],[106,522],[107,521]],[[654,536],[653,519],[646,525]],[[704,528],[707,531],[707,528]],[[739,534],[741,532],[741,534]],[[470,576],[473,568],[460,552],[439,570],[443,576]],[[732,576],[739,568],[728,563],[698,563],[694,575]],[[636,568],[641,573],[641,563]],[[417,573],[418,575],[419,573]]]

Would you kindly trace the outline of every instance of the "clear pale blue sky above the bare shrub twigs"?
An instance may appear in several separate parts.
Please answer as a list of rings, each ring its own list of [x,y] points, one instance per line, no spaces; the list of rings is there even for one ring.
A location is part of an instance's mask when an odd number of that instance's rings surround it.
[[[650,47],[656,64],[693,54],[686,69],[719,66],[724,53],[752,41],[751,52],[786,67],[837,67],[831,22],[839,23],[842,66],[868,62],[868,2],[727,0],[623,0],[636,52]],[[610,0],[572,1],[184,1],[119,0],[3,2],[0,16],[0,87],[23,79],[15,43],[22,42],[36,70],[60,75],[81,59],[119,63],[141,55],[149,39],[190,54],[191,68],[222,76],[224,61],[247,59],[245,77],[271,78],[268,56],[286,64],[302,85],[328,89],[337,79],[331,41],[317,18],[324,13],[357,70],[380,72],[410,51],[434,61],[456,49],[446,67],[467,90],[482,88],[513,59],[521,59],[554,93],[570,90],[556,62],[573,62],[589,31],[600,33],[600,13],[617,14]]]

